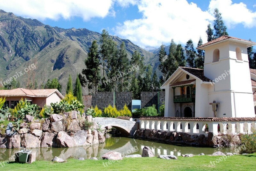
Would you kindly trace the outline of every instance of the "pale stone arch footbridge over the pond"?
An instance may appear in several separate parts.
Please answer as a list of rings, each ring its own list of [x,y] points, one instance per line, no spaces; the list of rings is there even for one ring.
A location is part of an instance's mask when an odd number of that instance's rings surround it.
[[[95,122],[101,125],[101,127],[112,126],[118,129],[121,133],[133,136],[137,129],[139,129],[139,123],[130,120],[118,119],[118,118],[93,118]]]

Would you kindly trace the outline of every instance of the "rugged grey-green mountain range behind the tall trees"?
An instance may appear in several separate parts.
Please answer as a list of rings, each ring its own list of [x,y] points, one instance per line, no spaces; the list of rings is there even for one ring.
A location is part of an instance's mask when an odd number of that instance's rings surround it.
[[[150,64],[160,76],[158,55],[134,45],[130,40],[111,37],[117,46],[124,41],[129,59],[135,50],[139,51],[144,56],[145,65]],[[100,33],[85,28],[51,27],[36,19],[17,17],[0,10],[0,82],[22,71],[24,75],[18,77],[17,81],[24,86],[28,79],[24,69],[35,64],[37,83],[57,78],[62,85],[61,92],[65,94],[68,75],[71,74],[74,83],[76,73],[81,73],[85,68],[84,60],[93,40],[99,45]],[[31,75],[33,71],[28,72]]]

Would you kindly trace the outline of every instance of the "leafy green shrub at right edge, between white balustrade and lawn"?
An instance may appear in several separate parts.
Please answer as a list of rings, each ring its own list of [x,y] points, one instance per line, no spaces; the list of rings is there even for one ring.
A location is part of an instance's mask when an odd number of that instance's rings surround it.
[[[240,153],[255,153],[256,152],[256,131],[252,134],[241,134],[241,143],[244,144],[245,148],[242,148]]]

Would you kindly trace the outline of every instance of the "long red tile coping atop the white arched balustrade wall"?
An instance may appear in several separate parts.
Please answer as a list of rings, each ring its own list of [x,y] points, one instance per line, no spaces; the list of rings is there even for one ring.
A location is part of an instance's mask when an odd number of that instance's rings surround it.
[[[256,118],[179,118],[179,117],[140,117],[140,120],[177,120],[177,121],[210,121],[210,122],[225,122],[225,121],[256,121]]]

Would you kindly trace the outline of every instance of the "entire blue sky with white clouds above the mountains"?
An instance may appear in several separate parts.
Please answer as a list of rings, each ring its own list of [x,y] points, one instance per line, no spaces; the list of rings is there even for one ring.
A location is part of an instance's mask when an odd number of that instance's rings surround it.
[[[230,36],[256,42],[254,0],[0,0],[0,9],[24,18],[36,18],[61,28],[102,29],[134,44],[154,49],[171,39],[195,46],[213,23],[213,11],[222,13]]]

